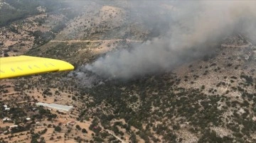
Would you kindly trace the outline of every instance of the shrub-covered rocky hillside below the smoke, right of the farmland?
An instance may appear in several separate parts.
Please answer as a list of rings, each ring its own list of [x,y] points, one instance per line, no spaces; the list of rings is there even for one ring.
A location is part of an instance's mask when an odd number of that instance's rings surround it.
[[[255,46],[229,44],[171,74],[82,88],[95,99],[84,113],[145,142],[254,142]]]

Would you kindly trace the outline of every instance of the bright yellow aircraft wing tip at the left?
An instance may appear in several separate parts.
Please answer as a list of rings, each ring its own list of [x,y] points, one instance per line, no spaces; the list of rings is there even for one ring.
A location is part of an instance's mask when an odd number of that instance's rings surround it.
[[[72,64],[59,59],[31,56],[0,58],[0,79],[72,69]]]

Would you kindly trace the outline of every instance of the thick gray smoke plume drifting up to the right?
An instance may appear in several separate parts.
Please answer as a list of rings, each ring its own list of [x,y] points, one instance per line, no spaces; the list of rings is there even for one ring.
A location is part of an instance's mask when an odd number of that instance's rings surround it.
[[[151,6],[169,7],[169,26],[161,29],[165,33],[130,50],[109,52],[82,70],[110,79],[131,79],[201,58],[215,50],[213,43],[234,32],[255,36],[256,1],[154,1]],[[130,11],[146,14],[151,8]],[[148,21],[154,23],[154,18]]]

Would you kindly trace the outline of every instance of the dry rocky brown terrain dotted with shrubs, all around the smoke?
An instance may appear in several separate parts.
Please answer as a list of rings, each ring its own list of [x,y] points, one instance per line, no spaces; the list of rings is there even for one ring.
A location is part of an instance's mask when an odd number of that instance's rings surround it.
[[[1,11],[11,6],[0,2]],[[56,6],[32,6],[36,13],[14,16],[0,28],[1,57],[51,57],[76,67],[1,80],[0,142],[255,142],[256,46],[246,33],[231,33],[208,55],[170,71],[97,79],[80,67],[158,37],[169,27],[161,16],[178,10],[163,3],[145,14],[151,4],[127,1]],[[156,16],[161,22],[151,21]],[[50,110],[38,102],[74,109]]]

